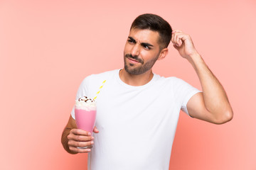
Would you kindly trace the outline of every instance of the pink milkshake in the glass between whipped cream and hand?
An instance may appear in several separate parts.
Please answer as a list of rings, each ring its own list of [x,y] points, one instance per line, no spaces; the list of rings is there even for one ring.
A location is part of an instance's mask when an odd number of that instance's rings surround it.
[[[96,109],[85,110],[75,107],[75,122],[78,129],[86,130],[92,134],[92,130],[95,126]]]

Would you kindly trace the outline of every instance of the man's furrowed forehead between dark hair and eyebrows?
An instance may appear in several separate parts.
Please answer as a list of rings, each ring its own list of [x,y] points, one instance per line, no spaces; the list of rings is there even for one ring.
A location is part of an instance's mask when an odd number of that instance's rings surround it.
[[[156,45],[159,42],[159,33],[154,30],[142,30],[138,28],[132,28],[129,32],[129,37],[139,42],[148,42],[152,45]]]

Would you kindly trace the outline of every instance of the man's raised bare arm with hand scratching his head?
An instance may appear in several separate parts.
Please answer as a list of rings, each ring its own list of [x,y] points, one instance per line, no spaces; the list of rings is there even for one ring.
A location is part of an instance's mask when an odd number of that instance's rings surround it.
[[[231,120],[233,110],[225,90],[196,51],[190,36],[174,30],[171,41],[179,54],[192,64],[203,89],[203,93],[194,95],[187,103],[191,117],[215,124]]]

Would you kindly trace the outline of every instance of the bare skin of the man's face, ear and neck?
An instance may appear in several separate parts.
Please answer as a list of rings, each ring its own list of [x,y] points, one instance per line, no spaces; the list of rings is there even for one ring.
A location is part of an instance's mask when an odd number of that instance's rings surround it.
[[[159,33],[151,30],[130,30],[124,46],[124,69],[119,72],[119,77],[124,83],[131,86],[142,86],[153,78],[152,67],[156,60],[163,60],[168,54],[168,48],[159,46]],[[132,56],[142,62],[137,62]],[[126,68],[127,67],[127,68]],[[133,74],[132,70],[147,67],[144,72]]]

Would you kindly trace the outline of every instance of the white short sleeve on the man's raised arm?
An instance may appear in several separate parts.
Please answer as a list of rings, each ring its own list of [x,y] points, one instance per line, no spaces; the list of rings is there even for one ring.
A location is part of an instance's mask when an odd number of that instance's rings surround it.
[[[195,94],[202,91],[186,83],[186,81],[183,81],[182,79],[178,79],[178,78],[176,78],[175,87],[176,89],[174,89],[174,94],[176,96],[176,99],[181,104],[181,111],[189,115],[188,109],[187,109],[187,103],[189,99]]]

